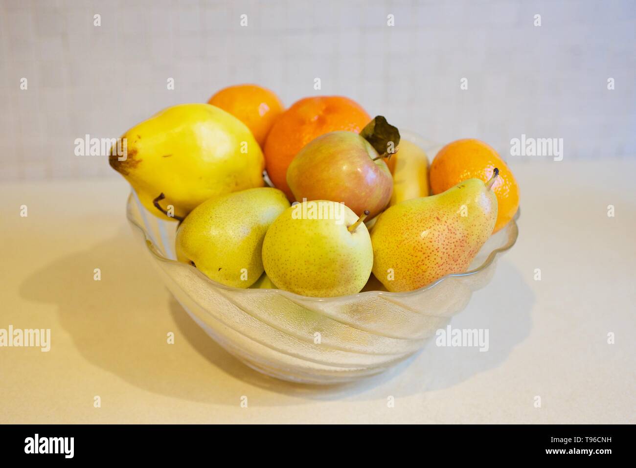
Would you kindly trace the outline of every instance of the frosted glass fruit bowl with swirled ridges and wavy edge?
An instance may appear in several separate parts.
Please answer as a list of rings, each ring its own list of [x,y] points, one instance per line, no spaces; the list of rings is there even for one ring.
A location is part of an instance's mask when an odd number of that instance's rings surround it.
[[[426,151],[440,148],[411,132],[402,137]],[[280,289],[223,286],[176,261],[177,223],[128,197],[127,217],[165,285],[192,319],[230,354],[257,371],[311,384],[351,382],[390,368],[417,352],[484,287],[497,259],[516,242],[515,217],[490,237],[465,273],[446,275],[410,292],[366,291],[310,298]]]

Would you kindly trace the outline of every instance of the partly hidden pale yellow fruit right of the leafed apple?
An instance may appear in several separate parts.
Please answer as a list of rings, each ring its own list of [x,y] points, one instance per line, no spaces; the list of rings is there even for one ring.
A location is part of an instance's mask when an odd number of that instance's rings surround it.
[[[429,196],[429,158],[417,144],[402,139],[397,153],[387,162],[393,174],[389,206],[404,200]]]

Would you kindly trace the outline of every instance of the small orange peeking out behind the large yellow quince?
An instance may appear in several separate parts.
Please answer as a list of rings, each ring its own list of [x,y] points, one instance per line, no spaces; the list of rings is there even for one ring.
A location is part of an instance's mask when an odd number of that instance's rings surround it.
[[[284,109],[277,95],[257,85],[228,86],[207,103],[221,107],[247,125],[261,148],[274,121]]]

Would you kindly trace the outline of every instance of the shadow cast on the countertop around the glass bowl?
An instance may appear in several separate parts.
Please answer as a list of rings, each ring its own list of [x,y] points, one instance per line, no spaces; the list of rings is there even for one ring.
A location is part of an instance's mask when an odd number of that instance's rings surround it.
[[[89,362],[168,397],[238,407],[251,385],[266,391],[250,399],[250,406],[280,405],[279,394],[289,396],[287,404],[423,394],[496,368],[531,327],[534,295],[504,258],[492,282],[450,322],[453,328],[488,329],[488,352],[436,347],[432,340],[407,361],[361,382],[333,387],[281,382],[253,371],[212,341],[170,296],[146,255],[141,242],[122,228],[113,238],[34,272],[20,285],[20,295],[57,305],[62,326]],[[100,281],[93,280],[94,268],[101,270]],[[490,294],[495,288],[497,301]],[[174,345],[167,344],[170,331]]]

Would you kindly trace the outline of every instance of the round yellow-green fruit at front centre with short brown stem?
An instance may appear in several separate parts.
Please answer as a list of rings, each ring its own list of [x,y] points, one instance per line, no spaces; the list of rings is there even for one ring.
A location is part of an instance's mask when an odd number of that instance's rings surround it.
[[[263,241],[263,266],[279,288],[303,296],[356,294],[373,266],[364,226],[344,203],[296,203],[272,223]]]

